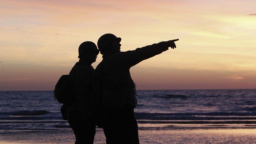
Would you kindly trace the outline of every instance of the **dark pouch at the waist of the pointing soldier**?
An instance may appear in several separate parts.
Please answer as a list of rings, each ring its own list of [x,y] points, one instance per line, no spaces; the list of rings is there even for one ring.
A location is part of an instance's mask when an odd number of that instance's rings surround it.
[[[127,91],[104,90],[103,105],[110,109],[120,109],[126,104]]]

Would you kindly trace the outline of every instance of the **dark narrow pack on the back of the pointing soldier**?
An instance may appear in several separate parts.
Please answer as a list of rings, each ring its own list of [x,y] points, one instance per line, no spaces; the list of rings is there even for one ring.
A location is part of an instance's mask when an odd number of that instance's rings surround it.
[[[99,68],[98,68],[99,67]],[[97,69],[98,68],[98,69]],[[101,62],[94,71],[92,88],[92,118],[97,127],[103,127],[104,111],[102,103],[102,83],[104,81],[104,65]]]

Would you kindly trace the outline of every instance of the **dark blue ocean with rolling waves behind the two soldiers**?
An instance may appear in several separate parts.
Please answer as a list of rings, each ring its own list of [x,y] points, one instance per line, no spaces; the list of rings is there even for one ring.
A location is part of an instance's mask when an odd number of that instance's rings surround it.
[[[139,134],[227,129],[249,129],[256,134],[255,97],[256,90],[137,90]],[[1,91],[0,101],[0,140],[15,142],[24,132],[53,135],[66,131],[73,138],[52,91]],[[97,131],[104,137],[100,128]],[[104,138],[98,138],[101,141]]]

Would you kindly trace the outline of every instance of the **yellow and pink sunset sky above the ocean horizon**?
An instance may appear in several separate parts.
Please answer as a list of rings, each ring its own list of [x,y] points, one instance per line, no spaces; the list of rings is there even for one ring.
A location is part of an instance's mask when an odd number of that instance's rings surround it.
[[[180,39],[131,68],[137,89],[256,88],[255,0],[0,0],[0,32],[0,91],[53,90],[105,33],[122,51]]]

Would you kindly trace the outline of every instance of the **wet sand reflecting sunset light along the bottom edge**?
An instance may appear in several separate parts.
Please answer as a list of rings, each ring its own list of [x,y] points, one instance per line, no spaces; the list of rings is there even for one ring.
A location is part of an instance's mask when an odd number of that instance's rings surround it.
[[[211,130],[140,130],[141,144],[256,144],[256,129]],[[2,131],[0,144],[70,144],[74,143],[71,130]],[[102,130],[96,131],[96,144],[104,144]]]

